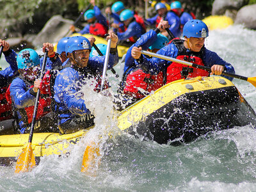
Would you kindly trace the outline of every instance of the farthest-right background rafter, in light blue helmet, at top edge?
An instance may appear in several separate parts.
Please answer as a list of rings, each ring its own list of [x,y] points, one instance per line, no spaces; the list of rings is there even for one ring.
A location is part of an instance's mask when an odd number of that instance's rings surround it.
[[[191,15],[188,12],[184,12],[182,5],[179,1],[173,1],[171,4],[172,12],[175,12],[180,17],[180,30],[183,30],[184,24],[189,20],[195,19],[195,15]],[[193,17],[194,16],[194,17]]]

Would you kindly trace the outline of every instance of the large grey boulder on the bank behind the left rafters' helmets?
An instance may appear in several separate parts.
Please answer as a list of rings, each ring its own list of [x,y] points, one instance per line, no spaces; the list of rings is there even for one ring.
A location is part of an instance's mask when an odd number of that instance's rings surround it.
[[[56,43],[58,40],[67,35],[69,27],[73,24],[73,20],[63,19],[61,15],[54,15],[47,21],[44,28],[36,35],[33,45],[42,46],[45,42]]]

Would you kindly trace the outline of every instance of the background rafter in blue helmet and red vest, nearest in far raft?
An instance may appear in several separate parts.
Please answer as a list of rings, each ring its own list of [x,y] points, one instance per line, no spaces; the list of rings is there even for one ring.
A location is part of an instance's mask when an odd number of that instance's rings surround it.
[[[122,31],[121,28],[120,31],[109,30],[116,33],[120,45],[131,46],[146,32],[143,19],[134,15],[131,10],[122,11],[120,20],[124,23],[125,31]]]

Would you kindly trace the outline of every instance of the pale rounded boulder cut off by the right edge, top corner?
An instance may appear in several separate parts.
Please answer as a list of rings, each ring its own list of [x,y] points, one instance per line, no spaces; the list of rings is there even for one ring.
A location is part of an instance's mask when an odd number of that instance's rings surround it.
[[[235,24],[243,24],[246,28],[256,29],[256,4],[241,8],[237,12]]]

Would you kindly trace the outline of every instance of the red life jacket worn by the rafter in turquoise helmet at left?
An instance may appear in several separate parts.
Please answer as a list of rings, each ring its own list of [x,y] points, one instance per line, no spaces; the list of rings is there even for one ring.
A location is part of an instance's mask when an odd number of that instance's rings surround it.
[[[33,85],[29,83],[24,77],[19,76],[20,79],[22,79],[26,83],[26,87],[33,88]],[[42,80],[42,87],[40,88],[40,98],[38,102],[38,109],[36,113],[36,120],[39,120],[43,116],[45,116],[47,113],[51,111],[51,88],[50,88],[50,71],[47,71],[47,73],[44,75]],[[10,86],[8,87],[8,90],[6,92],[6,99],[9,102],[12,102],[12,99],[10,97]],[[25,124],[30,124],[32,122],[33,118],[33,112],[34,112],[34,106],[30,106],[28,108],[19,109],[21,120]]]

